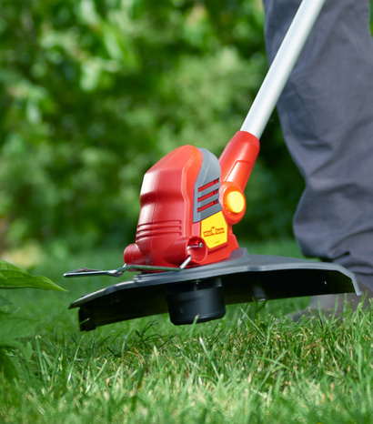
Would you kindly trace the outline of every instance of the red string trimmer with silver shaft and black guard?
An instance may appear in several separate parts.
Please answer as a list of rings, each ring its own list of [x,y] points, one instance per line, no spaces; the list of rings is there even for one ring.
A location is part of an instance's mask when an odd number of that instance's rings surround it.
[[[217,159],[205,148],[176,148],[144,177],[136,241],[125,266],[80,268],[65,277],[140,271],[131,280],[79,298],[81,330],[169,312],[176,324],[222,318],[226,305],[356,292],[354,275],[336,264],[249,255],[232,226],[245,215],[244,189],[259,138],[325,0],[304,0],[240,131]]]

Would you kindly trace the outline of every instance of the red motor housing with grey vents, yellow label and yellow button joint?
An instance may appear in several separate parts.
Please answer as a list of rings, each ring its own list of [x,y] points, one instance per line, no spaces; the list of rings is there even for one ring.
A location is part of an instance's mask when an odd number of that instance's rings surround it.
[[[226,259],[238,247],[232,225],[245,214],[243,190],[259,151],[257,137],[237,132],[220,160],[205,148],[181,146],[143,180],[136,242],[125,263],[188,267]]]

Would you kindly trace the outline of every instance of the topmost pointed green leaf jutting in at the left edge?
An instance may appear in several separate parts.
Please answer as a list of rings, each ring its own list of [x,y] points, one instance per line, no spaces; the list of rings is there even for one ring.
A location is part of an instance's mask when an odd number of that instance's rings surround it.
[[[0,259],[0,288],[42,288],[45,290],[67,291],[49,278],[32,276],[25,269]]]

